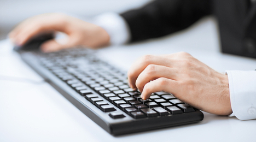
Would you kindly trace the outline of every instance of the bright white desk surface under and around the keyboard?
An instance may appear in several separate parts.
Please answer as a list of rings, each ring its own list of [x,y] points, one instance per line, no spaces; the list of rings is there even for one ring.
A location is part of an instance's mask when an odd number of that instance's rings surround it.
[[[206,19],[170,37],[98,51],[104,60],[129,69],[144,54],[187,51],[210,67],[254,70],[256,60],[221,54],[216,26]],[[199,123],[113,137],[68,102],[0,42],[0,141],[256,141],[256,121],[208,113]],[[22,82],[15,76],[36,80]]]

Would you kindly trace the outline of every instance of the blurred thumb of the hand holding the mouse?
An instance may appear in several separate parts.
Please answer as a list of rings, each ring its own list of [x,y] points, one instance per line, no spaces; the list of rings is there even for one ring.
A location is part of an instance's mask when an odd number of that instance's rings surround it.
[[[61,49],[66,49],[66,48],[70,48],[72,47],[72,45],[70,44],[60,44],[58,42],[56,42],[56,40],[49,40],[45,43],[43,43],[41,46],[40,46],[40,49],[43,51],[43,52],[55,52],[55,51],[59,51]]]

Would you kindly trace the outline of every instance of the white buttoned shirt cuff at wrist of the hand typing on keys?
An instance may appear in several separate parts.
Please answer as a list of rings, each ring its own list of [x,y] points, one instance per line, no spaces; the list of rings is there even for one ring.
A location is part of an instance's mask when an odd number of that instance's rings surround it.
[[[240,120],[256,119],[256,71],[227,70],[231,108]]]

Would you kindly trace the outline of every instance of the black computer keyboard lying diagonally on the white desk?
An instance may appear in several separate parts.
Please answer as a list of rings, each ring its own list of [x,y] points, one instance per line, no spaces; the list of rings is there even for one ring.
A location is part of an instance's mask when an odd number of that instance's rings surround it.
[[[113,135],[203,120],[201,111],[173,94],[155,92],[143,100],[127,76],[94,51],[74,48],[43,54],[19,51],[22,59],[91,120]]]

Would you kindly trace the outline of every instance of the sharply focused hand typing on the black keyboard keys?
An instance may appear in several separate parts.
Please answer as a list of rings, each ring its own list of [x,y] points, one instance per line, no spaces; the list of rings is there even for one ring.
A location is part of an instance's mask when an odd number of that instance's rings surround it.
[[[142,92],[143,99],[154,92],[165,91],[208,113],[232,113],[228,76],[186,52],[143,56],[130,68],[128,80],[131,88]]]

